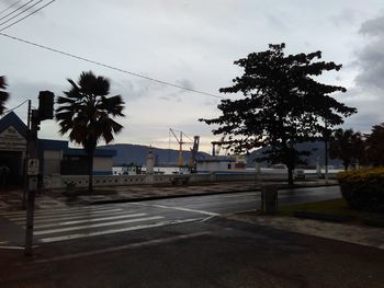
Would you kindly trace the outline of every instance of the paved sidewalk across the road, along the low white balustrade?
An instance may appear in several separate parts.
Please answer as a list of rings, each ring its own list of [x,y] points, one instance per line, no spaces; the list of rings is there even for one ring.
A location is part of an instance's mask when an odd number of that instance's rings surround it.
[[[284,187],[285,182],[273,182]],[[213,195],[226,193],[240,193],[259,191],[264,182],[217,182],[183,186],[105,186],[95,187],[95,195],[79,195],[76,197],[65,196],[65,189],[45,191],[42,195],[36,195],[36,209],[59,208],[65,206],[81,206],[92,204],[108,204],[120,201],[138,201],[150,199],[163,199],[176,197],[188,197],[199,195]],[[270,184],[270,183],[269,183]],[[329,185],[336,185],[336,181],[329,181]],[[297,182],[297,187],[324,186],[324,181]],[[9,189],[0,192],[0,210],[21,210],[23,191]]]

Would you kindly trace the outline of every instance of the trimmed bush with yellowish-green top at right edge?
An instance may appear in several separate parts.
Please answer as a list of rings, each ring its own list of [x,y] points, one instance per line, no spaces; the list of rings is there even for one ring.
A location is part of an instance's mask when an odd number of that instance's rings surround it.
[[[337,180],[351,209],[384,211],[384,168],[341,172]]]

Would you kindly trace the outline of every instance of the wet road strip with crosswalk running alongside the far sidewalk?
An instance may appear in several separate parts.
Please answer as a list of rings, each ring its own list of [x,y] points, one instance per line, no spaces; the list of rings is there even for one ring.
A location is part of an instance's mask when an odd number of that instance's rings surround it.
[[[280,205],[340,197],[338,186],[282,189]],[[90,239],[171,224],[204,221],[221,215],[260,208],[260,192],[104,204],[35,212],[34,243]],[[22,246],[25,212],[0,214],[0,246]]]

